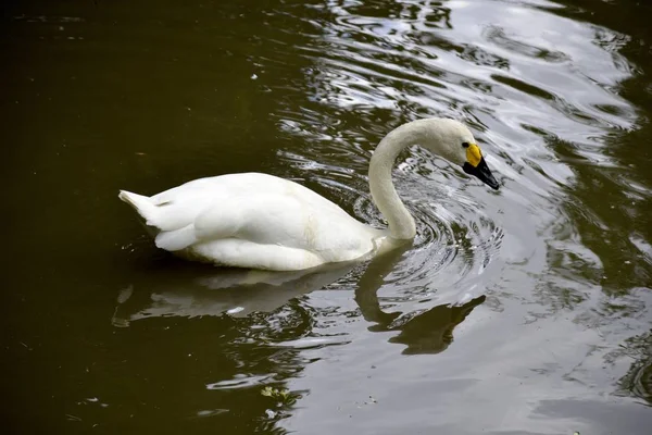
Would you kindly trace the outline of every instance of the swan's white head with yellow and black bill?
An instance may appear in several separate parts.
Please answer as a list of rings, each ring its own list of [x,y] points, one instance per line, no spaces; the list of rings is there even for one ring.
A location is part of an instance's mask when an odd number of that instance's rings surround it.
[[[473,134],[464,124],[454,120],[436,119],[432,120],[432,127],[434,140],[428,148],[498,190],[500,185],[491,174]]]

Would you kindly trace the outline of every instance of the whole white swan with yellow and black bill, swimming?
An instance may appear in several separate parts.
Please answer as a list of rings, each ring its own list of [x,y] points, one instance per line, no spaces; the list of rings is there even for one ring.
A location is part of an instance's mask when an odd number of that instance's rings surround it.
[[[378,229],[288,179],[262,173],[199,178],[151,197],[121,190],[152,231],[158,248],[187,260],[269,271],[299,271],[367,258],[416,235],[394,189],[401,150],[419,145],[489,187],[499,184],[471,130],[451,119],[423,119],[391,130],[368,171],[372,198],[388,223]]]

